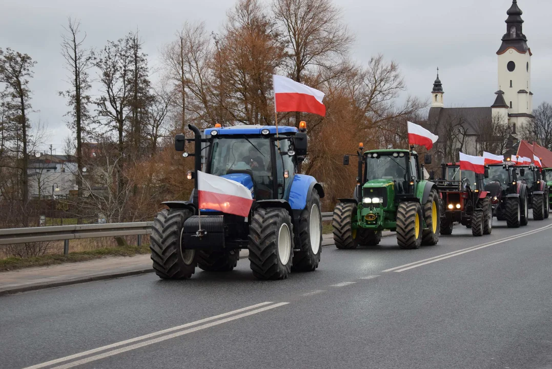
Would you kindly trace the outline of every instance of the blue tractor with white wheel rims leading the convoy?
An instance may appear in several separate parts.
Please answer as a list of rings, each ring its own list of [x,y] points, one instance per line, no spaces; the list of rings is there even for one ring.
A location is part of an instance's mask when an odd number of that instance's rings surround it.
[[[314,271],[320,262],[322,186],[300,174],[307,153],[306,125],[242,125],[188,128],[194,138],[176,135],[175,149],[194,156],[195,179],[189,201],[166,201],[157,213],[151,234],[153,268],[162,279],[187,279],[196,266],[205,271],[230,271],[240,250],[249,250],[253,275],[284,279],[291,270]],[[194,153],[185,143],[194,143]],[[203,168],[202,168],[203,165]],[[251,190],[253,205],[247,217],[198,209],[195,173],[223,177]],[[203,233],[198,235],[199,222]]]

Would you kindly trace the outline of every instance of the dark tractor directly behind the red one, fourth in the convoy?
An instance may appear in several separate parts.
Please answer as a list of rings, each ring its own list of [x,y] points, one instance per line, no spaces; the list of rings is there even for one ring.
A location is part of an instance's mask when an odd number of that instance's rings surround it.
[[[484,180],[485,191],[491,194],[493,216],[505,220],[508,228],[527,226],[529,222],[529,194],[527,185],[518,180],[515,163],[489,164],[489,177]],[[519,174],[524,173],[520,169]]]

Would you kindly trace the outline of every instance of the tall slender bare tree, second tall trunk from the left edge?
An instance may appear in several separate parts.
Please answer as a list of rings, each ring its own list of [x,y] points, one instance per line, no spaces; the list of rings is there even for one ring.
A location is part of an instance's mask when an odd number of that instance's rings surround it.
[[[60,95],[67,98],[67,105],[71,107],[71,111],[67,114],[72,120],[68,122],[68,126],[76,133],[76,156],[77,170],[82,171],[82,140],[83,132],[86,131],[86,125],[91,120],[88,105],[91,103],[89,94],[92,85],[89,80],[88,70],[94,63],[94,51],[84,47],[86,33],[80,37],[79,30],[81,23],[76,19],[67,19],[67,26],[63,27],[66,34],[62,35],[61,55],[65,59],[65,69],[69,73],[69,83],[71,87],[66,91],[60,92]],[[77,176],[78,194],[81,196],[82,183],[80,177]]]

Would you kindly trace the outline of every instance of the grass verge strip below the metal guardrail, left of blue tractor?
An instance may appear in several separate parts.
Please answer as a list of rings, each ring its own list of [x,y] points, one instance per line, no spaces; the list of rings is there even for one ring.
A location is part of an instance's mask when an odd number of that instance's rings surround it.
[[[140,254],[149,254],[150,247],[147,245],[104,248],[91,251],[82,251],[71,253],[69,255],[49,254],[35,256],[33,258],[6,258],[0,259],[0,272],[15,269],[31,268],[36,266],[47,266],[63,263],[77,263],[78,261],[88,261],[100,259],[104,256],[135,256]]]

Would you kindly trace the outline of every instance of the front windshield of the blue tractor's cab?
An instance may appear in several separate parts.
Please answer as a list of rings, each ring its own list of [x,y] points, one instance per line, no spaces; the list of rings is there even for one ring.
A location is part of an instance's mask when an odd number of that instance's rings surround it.
[[[255,176],[270,176],[270,145],[264,137],[220,137],[213,140],[211,174],[253,170]]]

